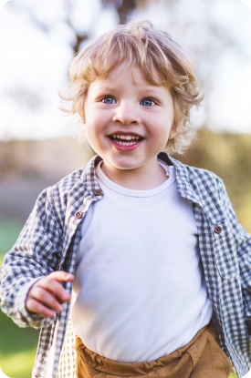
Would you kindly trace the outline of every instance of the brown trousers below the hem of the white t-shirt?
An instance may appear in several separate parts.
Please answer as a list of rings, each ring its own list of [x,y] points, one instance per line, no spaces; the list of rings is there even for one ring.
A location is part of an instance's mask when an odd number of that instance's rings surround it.
[[[77,337],[78,378],[227,378],[230,360],[219,346],[213,325],[182,348],[150,363],[119,363],[89,351]]]

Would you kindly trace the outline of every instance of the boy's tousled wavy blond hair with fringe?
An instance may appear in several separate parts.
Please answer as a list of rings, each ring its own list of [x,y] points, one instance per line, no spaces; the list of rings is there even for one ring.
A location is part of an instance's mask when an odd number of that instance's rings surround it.
[[[183,153],[194,138],[190,109],[203,97],[193,67],[181,46],[148,21],[118,26],[99,36],[74,57],[69,68],[70,95],[67,98],[71,101],[71,112],[83,118],[90,83],[107,77],[124,60],[129,60],[131,66],[138,66],[150,84],[170,89],[176,135],[168,141],[166,150]]]

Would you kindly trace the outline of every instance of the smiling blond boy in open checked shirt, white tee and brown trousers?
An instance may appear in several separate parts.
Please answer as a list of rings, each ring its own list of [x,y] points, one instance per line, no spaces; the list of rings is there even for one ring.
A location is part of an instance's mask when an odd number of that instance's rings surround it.
[[[33,377],[244,376],[250,235],[220,179],[162,152],[188,147],[202,100],[182,48],[119,26],[70,82],[97,156],[42,192],[1,270],[3,311],[41,327]]]

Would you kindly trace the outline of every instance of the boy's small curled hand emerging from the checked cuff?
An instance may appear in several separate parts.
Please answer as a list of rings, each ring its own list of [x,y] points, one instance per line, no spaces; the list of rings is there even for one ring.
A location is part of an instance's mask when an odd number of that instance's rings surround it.
[[[66,271],[54,271],[34,283],[26,298],[29,312],[51,318],[55,312],[62,312],[62,303],[70,301],[70,294],[61,282],[73,281],[74,276]]]

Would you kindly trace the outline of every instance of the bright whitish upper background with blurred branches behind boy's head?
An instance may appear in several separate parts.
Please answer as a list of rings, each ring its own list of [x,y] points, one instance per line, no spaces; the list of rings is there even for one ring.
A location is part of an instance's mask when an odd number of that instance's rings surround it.
[[[58,111],[68,66],[89,40],[120,21],[122,1],[12,0],[0,11],[0,138],[71,133]],[[251,11],[241,0],[128,1],[184,47],[203,83],[196,124],[251,132]],[[117,6],[117,8],[116,8]],[[81,42],[81,39],[83,42]]]

